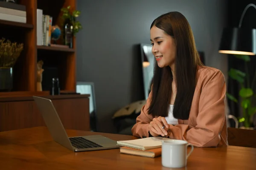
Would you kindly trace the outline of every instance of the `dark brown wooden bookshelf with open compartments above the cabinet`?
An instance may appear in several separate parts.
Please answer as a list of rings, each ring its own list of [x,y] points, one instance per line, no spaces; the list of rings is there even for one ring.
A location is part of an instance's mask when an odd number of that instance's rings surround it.
[[[26,6],[26,23],[0,20],[0,38],[12,42],[22,42],[24,49],[13,68],[13,89],[11,92],[0,92],[1,96],[27,96],[45,94],[36,89],[37,62],[44,61],[44,67],[58,68],[61,91],[76,91],[76,40],[73,37],[73,48],[59,48],[37,45],[37,8],[43,14],[52,16],[52,26],[61,28],[61,8],[76,8],[76,0],[19,0]],[[22,29],[21,29],[22,28]],[[61,39],[61,38],[60,38]],[[58,41],[61,44],[62,40]],[[44,72],[43,72],[44,81]],[[43,89],[44,90],[44,89]]]

